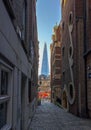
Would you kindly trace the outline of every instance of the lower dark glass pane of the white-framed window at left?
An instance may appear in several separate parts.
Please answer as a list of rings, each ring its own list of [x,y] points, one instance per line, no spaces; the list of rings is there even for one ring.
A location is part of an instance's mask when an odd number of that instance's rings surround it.
[[[0,129],[6,124],[7,121],[7,103],[0,104]]]

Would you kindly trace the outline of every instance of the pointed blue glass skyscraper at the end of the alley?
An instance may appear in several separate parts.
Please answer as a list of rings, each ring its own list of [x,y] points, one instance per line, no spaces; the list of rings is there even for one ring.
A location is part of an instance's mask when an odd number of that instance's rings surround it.
[[[45,76],[49,75],[48,55],[47,55],[47,45],[46,45],[46,43],[44,44],[44,50],[43,50],[41,75],[45,75]]]

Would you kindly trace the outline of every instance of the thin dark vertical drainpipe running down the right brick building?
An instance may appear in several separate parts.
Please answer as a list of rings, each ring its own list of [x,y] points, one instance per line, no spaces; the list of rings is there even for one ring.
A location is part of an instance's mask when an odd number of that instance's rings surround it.
[[[88,111],[87,111],[87,66],[86,66],[86,51],[87,51],[87,25],[86,25],[86,20],[87,20],[87,2],[86,0],[83,0],[83,16],[84,16],[84,65],[85,65],[85,103],[86,103],[86,117],[88,116]]]

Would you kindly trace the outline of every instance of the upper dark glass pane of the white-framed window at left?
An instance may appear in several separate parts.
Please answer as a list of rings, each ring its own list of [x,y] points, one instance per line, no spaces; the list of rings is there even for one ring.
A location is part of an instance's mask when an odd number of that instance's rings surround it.
[[[7,94],[8,87],[8,73],[5,71],[1,71],[1,95]]]

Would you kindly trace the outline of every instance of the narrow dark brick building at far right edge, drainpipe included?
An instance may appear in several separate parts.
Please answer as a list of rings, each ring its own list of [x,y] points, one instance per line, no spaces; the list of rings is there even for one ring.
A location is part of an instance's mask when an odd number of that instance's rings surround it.
[[[88,116],[91,117],[91,1],[85,1],[84,8],[84,59],[87,94],[86,105]]]

